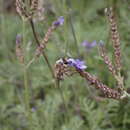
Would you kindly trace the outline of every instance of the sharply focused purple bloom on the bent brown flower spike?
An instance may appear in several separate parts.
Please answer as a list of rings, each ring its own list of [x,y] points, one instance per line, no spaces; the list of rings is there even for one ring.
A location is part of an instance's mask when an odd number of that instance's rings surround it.
[[[84,70],[87,68],[87,66],[85,65],[84,61],[81,61],[79,59],[73,59],[73,58],[69,58],[67,60],[68,62],[68,65],[69,66],[73,66],[73,67],[76,67],[77,69],[79,70]]]

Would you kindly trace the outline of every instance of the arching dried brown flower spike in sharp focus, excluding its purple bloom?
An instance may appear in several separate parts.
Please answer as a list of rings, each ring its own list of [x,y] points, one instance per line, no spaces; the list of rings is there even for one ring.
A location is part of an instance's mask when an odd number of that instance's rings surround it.
[[[60,64],[59,64],[60,63]],[[64,66],[65,68],[68,68],[68,63],[66,59],[61,59],[58,61],[58,64],[56,64],[56,76],[59,79],[62,79],[61,77],[65,74]],[[67,67],[68,66],[68,67]],[[58,69],[57,69],[58,68]],[[81,77],[85,78],[91,85],[95,86],[96,89],[99,89],[100,92],[104,94],[107,98],[113,98],[113,99],[120,99],[121,93],[117,90],[109,88],[107,85],[103,84],[98,78],[95,76],[92,76],[90,73],[85,72],[84,70],[78,69],[75,67],[76,72],[80,74]],[[71,70],[67,69],[67,73],[71,72]]]

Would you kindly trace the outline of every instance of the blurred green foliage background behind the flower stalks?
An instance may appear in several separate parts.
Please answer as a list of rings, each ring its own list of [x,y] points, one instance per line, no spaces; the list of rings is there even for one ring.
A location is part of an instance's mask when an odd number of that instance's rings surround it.
[[[81,46],[84,40],[103,40],[113,59],[109,24],[104,15],[104,9],[112,6],[121,37],[122,74],[129,90],[129,0],[39,1],[43,12],[40,20],[35,19],[35,28],[41,38],[57,17],[65,18],[64,25],[53,32],[45,49],[51,65],[54,67],[60,57],[82,58],[91,74],[114,88],[115,80],[99,56],[98,48],[86,51]],[[16,13],[15,1],[0,2],[0,130],[130,130],[129,100],[103,99],[78,75],[62,81],[59,91],[42,56],[27,70],[29,101],[26,101],[24,72],[15,54],[15,39],[17,34],[24,37],[26,63],[34,56],[36,42],[29,22],[23,22]]]

